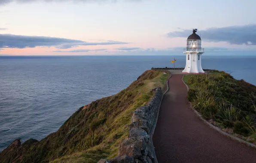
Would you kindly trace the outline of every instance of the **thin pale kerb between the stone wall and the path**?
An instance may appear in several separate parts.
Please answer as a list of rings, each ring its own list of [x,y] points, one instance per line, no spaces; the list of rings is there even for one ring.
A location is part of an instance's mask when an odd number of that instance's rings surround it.
[[[166,92],[169,91],[168,82],[169,82],[169,79],[171,78],[171,76],[172,76],[172,74],[170,74],[170,77],[169,77],[169,78],[167,79],[167,81],[166,81],[167,89],[166,89],[165,93],[163,93],[163,95],[162,95],[161,102],[160,102],[160,104],[159,104],[159,106],[158,106],[158,111],[157,111],[157,114],[156,114],[156,116],[155,116],[155,121],[154,121],[154,124],[153,124],[153,126],[152,126],[152,130],[151,130],[151,132],[150,132],[150,134],[149,134],[149,136],[150,136],[150,137],[149,137],[149,141],[151,142],[151,143],[150,143],[150,144],[151,144],[151,151],[152,151],[152,154],[153,154],[155,163],[158,163],[158,160],[157,160],[156,155],[155,155],[155,148],[154,148],[154,145],[153,145],[153,140],[152,140],[152,138],[153,138],[153,135],[154,135],[154,132],[155,132],[155,127],[156,127],[156,124],[157,124],[158,115],[159,115],[160,106],[161,106],[163,97],[164,97],[164,95],[166,94]]]

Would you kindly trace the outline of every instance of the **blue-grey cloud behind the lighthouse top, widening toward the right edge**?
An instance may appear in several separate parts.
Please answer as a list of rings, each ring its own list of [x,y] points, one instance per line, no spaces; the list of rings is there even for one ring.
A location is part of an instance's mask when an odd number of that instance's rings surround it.
[[[169,32],[167,37],[188,37],[192,30]],[[256,24],[198,29],[197,34],[208,42],[229,42],[235,45],[256,45]]]

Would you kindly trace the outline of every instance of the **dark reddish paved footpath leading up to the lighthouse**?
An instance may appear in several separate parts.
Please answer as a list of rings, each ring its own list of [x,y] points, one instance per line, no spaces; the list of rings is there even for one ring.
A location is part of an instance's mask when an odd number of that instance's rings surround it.
[[[182,76],[169,79],[153,143],[158,163],[256,163],[256,150],[223,136],[189,109]]]

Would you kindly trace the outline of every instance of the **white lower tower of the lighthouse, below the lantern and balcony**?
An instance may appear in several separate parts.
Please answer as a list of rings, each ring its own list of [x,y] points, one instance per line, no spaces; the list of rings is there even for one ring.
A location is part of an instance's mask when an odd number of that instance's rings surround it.
[[[186,54],[186,66],[183,73],[204,73],[201,66],[201,55],[204,52],[185,51],[183,53]]]

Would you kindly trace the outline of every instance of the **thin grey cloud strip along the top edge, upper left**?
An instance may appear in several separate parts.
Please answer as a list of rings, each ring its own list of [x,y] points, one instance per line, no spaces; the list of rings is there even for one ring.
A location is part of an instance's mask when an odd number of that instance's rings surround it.
[[[17,3],[31,3],[31,2],[37,2],[38,0],[0,0],[0,5],[5,5],[8,3],[12,3],[12,2],[17,2]],[[98,2],[98,3],[117,3],[117,1],[120,0],[41,0],[41,1],[45,1],[47,3],[49,2],[76,2],[76,3],[91,3],[91,2]],[[123,0],[125,2],[140,2],[142,0]]]

